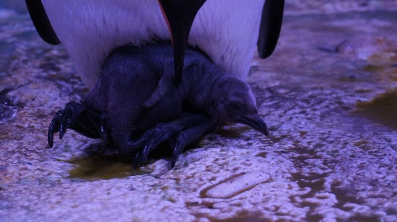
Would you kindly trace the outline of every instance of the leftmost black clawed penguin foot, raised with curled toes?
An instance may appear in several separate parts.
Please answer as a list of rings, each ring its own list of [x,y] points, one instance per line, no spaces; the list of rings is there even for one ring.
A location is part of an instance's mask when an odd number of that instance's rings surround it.
[[[59,132],[59,138],[62,140],[67,129],[92,139],[108,141],[106,117],[86,109],[77,102],[67,103],[65,109],[59,110],[51,121],[48,129],[50,148],[54,146],[54,134]]]

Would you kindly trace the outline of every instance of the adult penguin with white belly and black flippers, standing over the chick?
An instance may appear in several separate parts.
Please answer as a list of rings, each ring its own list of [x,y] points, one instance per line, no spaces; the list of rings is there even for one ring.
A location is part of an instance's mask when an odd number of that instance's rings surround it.
[[[182,46],[174,50],[174,58],[176,64],[183,64],[183,56],[181,59],[175,55],[183,51],[183,41],[189,38],[188,44],[199,47],[227,74],[242,79],[248,76],[257,47],[261,58],[273,52],[280,33],[284,0],[190,1],[191,4],[178,3],[181,0],[26,0],[26,3],[40,36],[65,47],[90,88],[109,53],[126,44],[171,39],[174,49],[178,44]],[[173,11],[189,13],[175,19],[171,18]],[[185,25],[182,34],[180,31],[180,36],[176,36],[175,27],[182,27],[192,17],[191,28]]]

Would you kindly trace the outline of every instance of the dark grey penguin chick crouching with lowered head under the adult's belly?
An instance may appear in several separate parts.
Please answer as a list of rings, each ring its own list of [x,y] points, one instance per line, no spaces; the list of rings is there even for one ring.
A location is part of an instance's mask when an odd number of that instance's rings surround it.
[[[136,166],[160,143],[169,142],[174,167],[187,145],[220,122],[246,124],[268,134],[250,86],[222,72],[199,50],[186,50],[182,82],[176,87],[172,50],[168,43],[114,50],[85,101],[58,111],[49,127],[49,146],[54,133],[60,132],[62,139],[69,128],[111,141]],[[159,88],[164,90],[154,93]],[[155,102],[145,106],[150,99]]]

